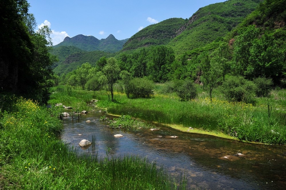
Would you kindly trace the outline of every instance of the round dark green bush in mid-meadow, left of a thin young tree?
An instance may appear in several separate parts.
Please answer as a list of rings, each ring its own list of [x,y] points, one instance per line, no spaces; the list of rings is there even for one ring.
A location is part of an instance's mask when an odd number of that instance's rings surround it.
[[[195,99],[197,96],[197,89],[193,82],[186,81],[176,81],[175,84],[177,87],[176,90],[177,95],[181,98],[181,101],[188,101],[191,99]]]

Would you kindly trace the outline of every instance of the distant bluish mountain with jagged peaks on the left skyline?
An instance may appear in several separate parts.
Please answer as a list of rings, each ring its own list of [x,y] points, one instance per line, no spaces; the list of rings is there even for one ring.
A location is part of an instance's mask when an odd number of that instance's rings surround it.
[[[128,39],[125,40],[117,40],[112,34],[110,34],[106,39],[97,39],[94,36],[84,36],[79,34],[72,38],[66,37],[64,41],[53,46],[54,48],[58,48],[60,46],[75,46],[83,51],[105,51],[105,52],[118,52],[122,49],[124,43]]]

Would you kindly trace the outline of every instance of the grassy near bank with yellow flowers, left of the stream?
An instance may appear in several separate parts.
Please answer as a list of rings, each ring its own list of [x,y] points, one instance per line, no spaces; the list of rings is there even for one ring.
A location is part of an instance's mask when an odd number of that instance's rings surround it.
[[[62,103],[87,109],[78,94]],[[177,189],[179,182],[148,160],[78,156],[58,138],[62,123],[50,115],[59,110],[23,97],[0,101],[0,189]]]

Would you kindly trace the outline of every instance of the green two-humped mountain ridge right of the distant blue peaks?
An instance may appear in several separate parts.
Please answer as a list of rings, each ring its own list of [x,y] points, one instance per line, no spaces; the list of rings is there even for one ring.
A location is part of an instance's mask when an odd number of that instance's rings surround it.
[[[200,8],[189,19],[167,19],[134,34],[122,51],[150,45],[171,46],[183,54],[219,40],[238,25],[260,0],[229,0]]]

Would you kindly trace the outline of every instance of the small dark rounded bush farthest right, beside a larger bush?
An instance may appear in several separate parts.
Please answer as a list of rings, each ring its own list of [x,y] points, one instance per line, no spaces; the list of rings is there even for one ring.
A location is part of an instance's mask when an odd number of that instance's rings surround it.
[[[271,87],[273,85],[272,79],[267,79],[265,77],[258,77],[253,79],[256,86],[255,94],[258,97],[268,97],[270,94]]]

